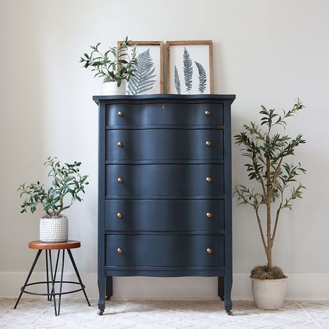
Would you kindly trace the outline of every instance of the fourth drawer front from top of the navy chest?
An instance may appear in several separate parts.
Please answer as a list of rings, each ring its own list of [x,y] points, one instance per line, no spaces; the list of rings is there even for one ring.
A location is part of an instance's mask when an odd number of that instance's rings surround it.
[[[221,233],[224,201],[106,200],[105,229]]]

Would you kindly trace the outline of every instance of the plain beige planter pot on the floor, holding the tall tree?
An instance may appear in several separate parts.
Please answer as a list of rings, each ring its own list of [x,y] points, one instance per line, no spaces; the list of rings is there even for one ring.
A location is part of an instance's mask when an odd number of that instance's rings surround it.
[[[287,295],[288,278],[260,280],[251,278],[253,298],[263,310],[279,310]]]

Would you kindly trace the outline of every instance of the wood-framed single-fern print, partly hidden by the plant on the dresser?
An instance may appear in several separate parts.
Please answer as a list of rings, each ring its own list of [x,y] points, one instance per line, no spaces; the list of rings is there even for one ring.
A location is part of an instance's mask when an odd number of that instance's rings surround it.
[[[118,41],[118,47],[122,41]],[[136,45],[135,76],[126,83],[126,94],[163,94],[163,42],[131,41]]]

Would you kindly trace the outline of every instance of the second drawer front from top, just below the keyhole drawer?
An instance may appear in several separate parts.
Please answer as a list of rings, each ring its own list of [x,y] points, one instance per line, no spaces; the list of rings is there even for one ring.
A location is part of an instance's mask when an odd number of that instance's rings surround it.
[[[146,129],[106,131],[106,160],[186,159],[222,160],[223,130]]]

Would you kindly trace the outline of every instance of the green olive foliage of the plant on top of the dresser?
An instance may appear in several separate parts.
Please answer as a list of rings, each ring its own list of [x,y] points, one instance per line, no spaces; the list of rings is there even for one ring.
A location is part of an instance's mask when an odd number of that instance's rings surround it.
[[[99,51],[98,42],[96,46],[90,46],[91,53],[84,53],[80,62],[83,62],[85,69],[96,71],[94,77],[99,76],[103,78],[103,82],[117,81],[120,87],[123,80],[129,81],[131,76],[134,76],[137,65],[136,46],[131,44],[128,37],[120,44],[119,47],[112,47],[105,53]],[[130,56],[128,54],[128,47],[131,47]]]

